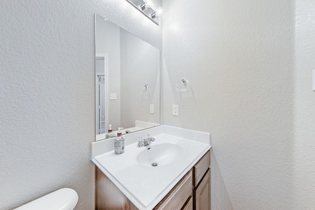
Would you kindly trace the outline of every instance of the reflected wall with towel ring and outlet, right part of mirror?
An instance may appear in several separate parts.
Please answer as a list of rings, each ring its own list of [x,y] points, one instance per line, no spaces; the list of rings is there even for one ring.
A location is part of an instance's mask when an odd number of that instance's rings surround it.
[[[148,88],[145,87],[148,85]],[[135,120],[159,124],[159,50],[121,30],[121,123]],[[154,104],[154,114],[150,114]]]

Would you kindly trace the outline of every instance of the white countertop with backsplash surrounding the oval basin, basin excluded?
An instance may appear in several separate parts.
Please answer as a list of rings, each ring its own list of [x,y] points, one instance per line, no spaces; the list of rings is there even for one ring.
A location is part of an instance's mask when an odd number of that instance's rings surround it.
[[[150,146],[153,147],[164,143],[181,145],[184,150],[179,160],[171,164],[159,165],[157,167],[141,165],[136,160],[136,156],[139,152],[147,150],[148,146],[138,148],[136,139],[133,140],[134,143],[126,144],[125,153],[119,155],[115,154],[113,150],[107,150],[101,154],[100,152],[98,152],[98,154],[97,152],[93,153],[93,147],[96,148],[97,146],[93,145],[92,147],[92,160],[95,165],[140,210],[153,209],[177,182],[185,176],[190,168],[211,148],[210,144],[207,144],[207,142],[210,141],[209,133],[165,125],[159,126],[158,129],[159,132],[152,130],[152,133],[160,134],[153,136],[156,140],[151,143]],[[150,130],[151,129],[148,129],[146,132],[150,133]],[[169,133],[178,135],[170,135]],[[134,135],[126,134],[124,137],[127,139],[127,135],[130,135],[131,138],[137,136],[135,133],[133,134]],[[183,136],[194,138],[186,139],[183,138]],[[199,139],[200,137],[207,139],[200,139],[200,141],[198,141],[198,137]],[[100,146],[100,144],[98,146]]]

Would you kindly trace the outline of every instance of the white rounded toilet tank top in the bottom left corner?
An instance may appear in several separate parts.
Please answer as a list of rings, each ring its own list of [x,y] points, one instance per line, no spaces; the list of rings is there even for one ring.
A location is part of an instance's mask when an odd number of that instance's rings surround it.
[[[75,190],[62,188],[15,210],[74,210],[78,199],[79,196]]]

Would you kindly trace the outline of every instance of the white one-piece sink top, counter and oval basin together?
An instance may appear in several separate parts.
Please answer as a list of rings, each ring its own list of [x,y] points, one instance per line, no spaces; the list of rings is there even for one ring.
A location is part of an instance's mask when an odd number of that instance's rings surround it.
[[[148,130],[158,130],[161,126]],[[155,141],[150,145],[137,147],[137,137],[148,134],[148,130],[126,134],[125,152],[119,155],[114,150],[100,153],[106,147],[112,149],[113,141],[93,143],[98,145],[95,152],[99,151],[93,156],[95,165],[140,210],[154,209],[211,148],[209,143],[202,142],[202,139],[210,141],[210,134],[186,130],[179,133],[196,140],[160,133],[152,136]],[[128,141],[133,143],[127,144]],[[154,167],[153,163],[158,165]]]

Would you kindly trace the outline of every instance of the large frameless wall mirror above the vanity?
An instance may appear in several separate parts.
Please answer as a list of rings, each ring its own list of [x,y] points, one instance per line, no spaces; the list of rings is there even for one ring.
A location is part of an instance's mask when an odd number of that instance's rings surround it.
[[[95,14],[95,134],[105,139],[160,123],[159,50]]]

